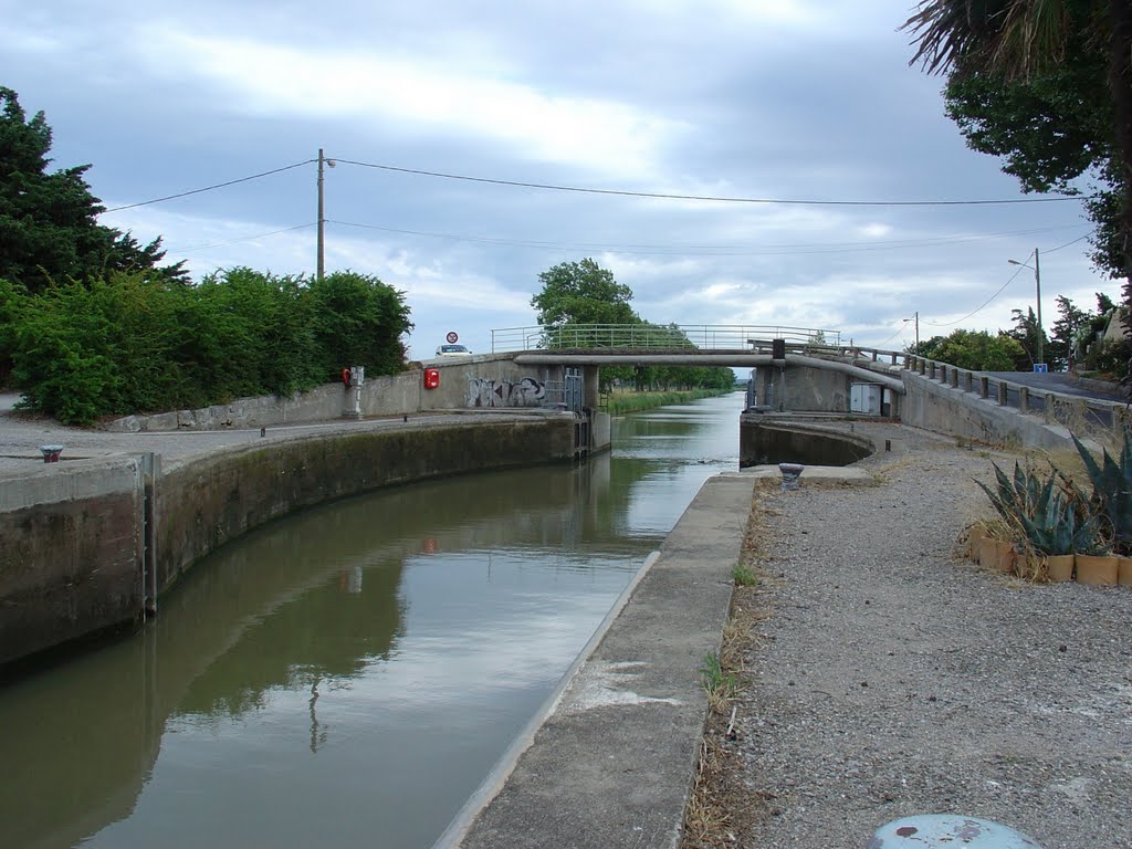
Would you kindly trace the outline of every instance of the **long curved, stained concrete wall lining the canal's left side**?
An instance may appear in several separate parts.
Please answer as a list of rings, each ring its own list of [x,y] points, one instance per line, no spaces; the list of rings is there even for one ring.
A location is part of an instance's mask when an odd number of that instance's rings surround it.
[[[380,487],[568,461],[576,418],[327,431],[40,464],[0,478],[0,666],[154,608],[197,560],[294,511]],[[152,470],[152,471],[149,471]]]

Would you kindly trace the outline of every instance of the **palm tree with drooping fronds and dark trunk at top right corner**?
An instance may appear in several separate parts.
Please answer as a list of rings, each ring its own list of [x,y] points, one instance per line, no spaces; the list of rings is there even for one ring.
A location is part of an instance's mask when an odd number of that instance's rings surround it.
[[[950,70],[960,78],[988,74],[1034,80],[1055,69],[1071,69],[1081,51],[1105,62],[1112,106],[1105,137],[1113,165],[1107,178],[1116,190],[1101,199],[1116,222],[1106,261],[1124,278],[1125,306],[1132,306],[1132,3],[1127,0],[925,0],[904,23],[918,43],[912,63],[928,72]],[[1097,213],[1092,213],[1097,215]],[[1132,310],[1129,311],[1132,321]]]

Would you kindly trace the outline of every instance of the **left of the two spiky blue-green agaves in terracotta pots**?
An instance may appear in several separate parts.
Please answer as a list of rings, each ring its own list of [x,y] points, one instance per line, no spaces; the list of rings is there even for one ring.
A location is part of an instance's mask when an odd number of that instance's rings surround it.
[[[976,481],[990,498],[990,504],[1009,524],[1026,533],[1030,546],[1047,555],[1099,552],[1106,548],[1097,516],[1086,499],[1052,468],[1043,479],[1037,472],[1023,470],[1014,463],[1014,475],[1006,474],[995,464],[997,486],[992,489]]]

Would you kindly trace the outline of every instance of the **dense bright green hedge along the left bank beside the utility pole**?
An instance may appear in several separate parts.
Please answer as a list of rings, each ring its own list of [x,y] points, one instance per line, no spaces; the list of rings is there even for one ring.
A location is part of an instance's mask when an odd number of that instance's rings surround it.
[[[114,273],[38,293],[0,281],[0,359],[24,405],[65,423],[285,395],[348,366],[394,374],[411,327],[401,292],[352,272],[232,268],[197,286]]]

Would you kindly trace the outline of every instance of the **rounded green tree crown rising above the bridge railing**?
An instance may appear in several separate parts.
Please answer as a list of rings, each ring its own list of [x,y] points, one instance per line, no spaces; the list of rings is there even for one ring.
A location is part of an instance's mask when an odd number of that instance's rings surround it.
[[[542,291],[531,299],[539,324],[635,324],[633,290],[590,258],[559,263],[539,274]]]

